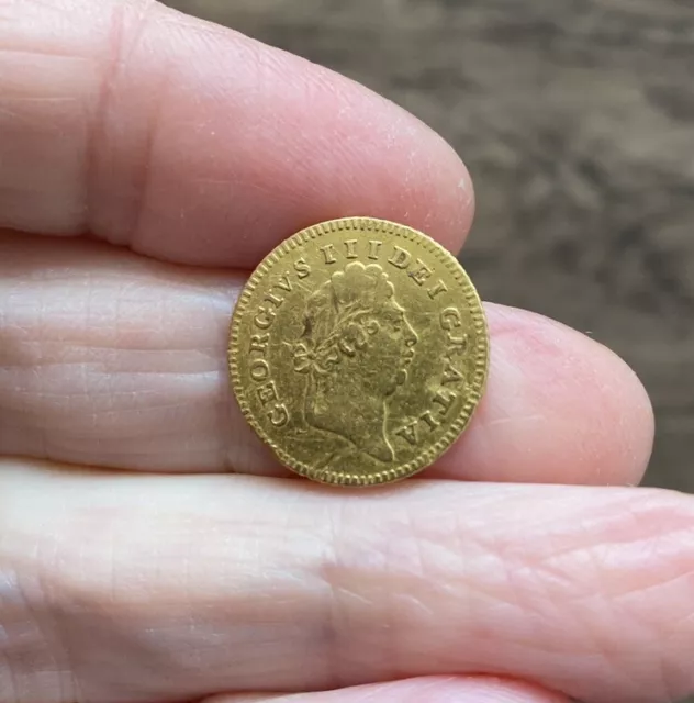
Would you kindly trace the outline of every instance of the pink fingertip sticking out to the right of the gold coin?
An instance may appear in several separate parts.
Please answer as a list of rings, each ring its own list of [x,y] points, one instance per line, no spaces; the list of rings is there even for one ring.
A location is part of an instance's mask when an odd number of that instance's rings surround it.
[[[614,352],[542,315],[488,304],[485,397],[443,457],[445,478],[634,484],[650,458],[653,413]]]

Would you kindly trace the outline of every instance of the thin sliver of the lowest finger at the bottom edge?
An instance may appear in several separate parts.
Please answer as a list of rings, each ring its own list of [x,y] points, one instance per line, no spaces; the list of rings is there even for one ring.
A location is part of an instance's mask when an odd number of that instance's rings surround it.
[[[489,677],[427,677],[318,693],[221,695],[202,703],[567,703],[567,699]]]

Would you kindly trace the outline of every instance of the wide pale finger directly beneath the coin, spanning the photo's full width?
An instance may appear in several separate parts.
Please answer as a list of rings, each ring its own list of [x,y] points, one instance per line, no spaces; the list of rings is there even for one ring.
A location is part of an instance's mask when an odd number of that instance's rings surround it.
[[[15,703],[480,672],[591,703],[694,692],[692,496],[5,461],[0,535]]]

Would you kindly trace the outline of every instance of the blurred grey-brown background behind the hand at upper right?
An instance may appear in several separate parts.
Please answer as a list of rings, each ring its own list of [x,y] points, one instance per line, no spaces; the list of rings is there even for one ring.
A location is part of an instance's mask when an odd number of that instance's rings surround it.
[[[168,0],[366,83],[472,172],[482,295],[614,348],[694,492],[693,0]]]

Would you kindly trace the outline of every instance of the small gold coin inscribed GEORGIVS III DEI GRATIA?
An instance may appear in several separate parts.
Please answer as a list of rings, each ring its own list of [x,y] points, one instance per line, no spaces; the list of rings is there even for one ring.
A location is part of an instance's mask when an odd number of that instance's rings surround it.
[[[410,227],[334,220],[280,244],[246,283],[232,386],[279,460],[372,486],[429,466],[484,390],[489,334],[457,259]]]

